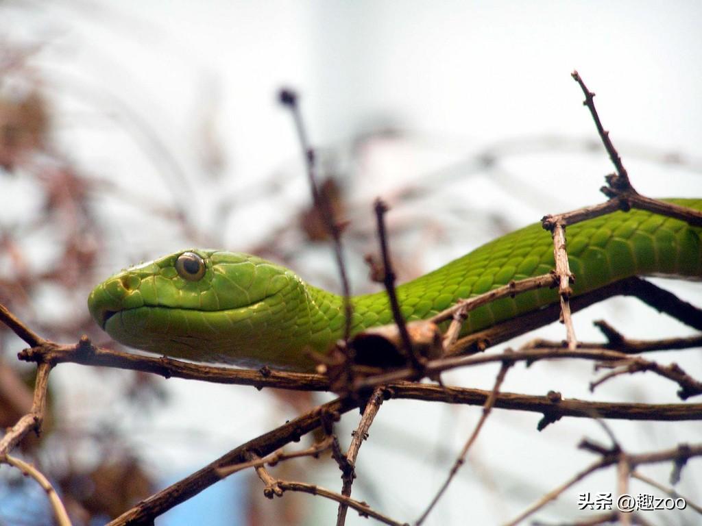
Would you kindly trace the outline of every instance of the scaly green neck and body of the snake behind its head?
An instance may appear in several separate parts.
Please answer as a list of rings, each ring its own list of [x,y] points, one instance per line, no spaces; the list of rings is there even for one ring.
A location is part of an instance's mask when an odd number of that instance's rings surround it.
[[[669,199],[702,210],[702,199]],[[575,276],[574,295],[581,295],[635,275],[702,279],[702,228],[645,210],[615,212],[567,229],[569,264]],[[408,321],[425,319],[458,299],[488,292],[512,280],[548,274],[553,269],[553,242],[541,224],[531,224],[444,267],[397,286],[400,311]],[[307,285],[310,311],[316,319],[313,340],[323,351],[324,337],[343,335],[343,297]],[[558,301],[557,291],[543,288],[498,299],[469,313],[461,335],[540,309]],[[351,298],[351,334],[392,323],[385,291]],[[328,325],[329,331],[322,329]],[[326,339],[326,346],[329,346]]]

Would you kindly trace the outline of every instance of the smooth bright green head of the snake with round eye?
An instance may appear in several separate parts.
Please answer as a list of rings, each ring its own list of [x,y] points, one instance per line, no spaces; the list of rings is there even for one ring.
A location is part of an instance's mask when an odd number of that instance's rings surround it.
[[[190,249],[108,278],[91,292],[88,309],[103,330],[128,346],[257,365],[265,356],[253,346],[274,349],[271,328],[281,326],[284,311],[300,308],[286,297],[298,297],[302,288],[295,274],[265,259]]]

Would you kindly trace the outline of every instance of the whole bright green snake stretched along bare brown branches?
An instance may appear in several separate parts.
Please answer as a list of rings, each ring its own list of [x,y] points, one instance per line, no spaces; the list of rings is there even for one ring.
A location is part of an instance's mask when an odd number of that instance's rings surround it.
[[[702,199],[670,199],[702,210]],[[702,279],[702,228],[643,210],[614,212],[567,228],[574,295],[634,275]],[[397,287],[408,320],[429,318],[459,298],[554,267],[553,243],[531,224]],[[351,298],[352,334],[392,323],[387,294]],[[462,334],[558,301],[539,289],[470,312]],[[243,367],[311,370],[342,335],[343,298],[253,255],[189,249],[100,283],[88,297],[95,322],[118,342],[152,353]]]

